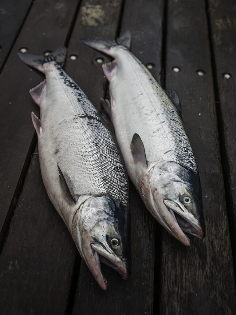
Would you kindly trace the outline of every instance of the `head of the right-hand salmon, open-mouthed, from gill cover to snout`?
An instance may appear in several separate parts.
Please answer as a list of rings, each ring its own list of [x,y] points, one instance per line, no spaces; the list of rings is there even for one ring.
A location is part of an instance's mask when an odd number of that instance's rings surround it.
[[[198,175],[176,162],[162,161],[149,170],[143,186],[149,187],[149,210],[175,238],[186,246],[190,242],[184,232],[204,238]]]

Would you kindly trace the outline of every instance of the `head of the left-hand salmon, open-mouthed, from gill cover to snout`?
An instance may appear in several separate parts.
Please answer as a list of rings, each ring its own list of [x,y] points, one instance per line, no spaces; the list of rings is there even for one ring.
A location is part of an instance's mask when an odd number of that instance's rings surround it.
[[[88,198],[72,222],[76,246],[102,289],[107,288],[100,262],[121,274],[130,273],[130,221],[127,209],[107,196]]]

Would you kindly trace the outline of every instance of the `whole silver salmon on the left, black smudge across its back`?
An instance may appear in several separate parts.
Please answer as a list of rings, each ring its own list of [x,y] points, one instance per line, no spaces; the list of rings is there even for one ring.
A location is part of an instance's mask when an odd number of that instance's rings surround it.
[[[130,270],[128,181],[109,118],[62,69],[64,46],[48,56],[18,54],[46,79],[30,90],[44,186],[102,289],[100,261],[123,279]],[[108,119],[107,119],[108,118]]]

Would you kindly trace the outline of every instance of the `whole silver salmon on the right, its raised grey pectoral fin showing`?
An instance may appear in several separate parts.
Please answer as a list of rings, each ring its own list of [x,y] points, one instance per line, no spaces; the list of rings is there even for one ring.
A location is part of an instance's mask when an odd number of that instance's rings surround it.
[[[114,58],[103,65],[110,85],[110,115],[128,175],[151,214],[184,245],[184,232],[204,238],[197,164],[180,117],[175,91],[166,94],[129,51],[131,35],[116,41],[85,41]]]

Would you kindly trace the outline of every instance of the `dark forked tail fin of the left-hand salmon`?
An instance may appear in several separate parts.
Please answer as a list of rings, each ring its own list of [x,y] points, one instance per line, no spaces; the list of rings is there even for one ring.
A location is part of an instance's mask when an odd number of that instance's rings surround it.
[[[18,53],[18,57],[27,65],[36,68],[37,70],[44,72],[43,64],[50,61],[55,61],[60,66],[63,66],[66,56],[65,46],[61,46],[48,55],[32,55],[25,53]]]

